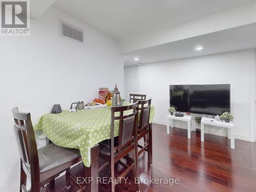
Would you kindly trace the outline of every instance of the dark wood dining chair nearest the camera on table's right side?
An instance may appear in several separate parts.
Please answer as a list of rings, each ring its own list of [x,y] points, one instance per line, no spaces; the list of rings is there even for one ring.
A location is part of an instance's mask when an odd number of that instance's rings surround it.
[[[132,110],[129,115],[124,115],[125,111]],[[137,142],[137,116],[138,114],[138,102],[126,106],[113,106],[111,108],[111,142],[110,146],[100,143],[99,145],[99,157],[106,161],[99,171],[106,166],[111,166],[111,191],[115,191],[116,183],[120,183],[131,170],[133,170],[134,179],[138,178],[138,167],[136,157]],[[116,121],[119,121],[118,137],[114,137],[114,127]],[[132,158],[126,156],[126,154],[132,153]],[[121,159],[126,158],[131,160],[129,165],[123,162]],[[122,165],[125,170],[115,179],[114,165],[115,163]],[[136,191],[139,191],[139,184],[136,184]]]

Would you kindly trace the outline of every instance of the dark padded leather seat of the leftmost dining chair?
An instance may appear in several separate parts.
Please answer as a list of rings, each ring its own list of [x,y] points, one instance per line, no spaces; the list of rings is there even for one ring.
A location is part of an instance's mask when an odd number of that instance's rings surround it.
[[[38,150],[40,173],[45,173],[79,157],[79,150],[59,147],[53,143],[46,145]]]

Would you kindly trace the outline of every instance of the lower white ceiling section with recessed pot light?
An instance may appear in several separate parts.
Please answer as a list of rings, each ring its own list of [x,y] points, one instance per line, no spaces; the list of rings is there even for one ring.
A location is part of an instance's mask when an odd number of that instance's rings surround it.
[[[137,65],[137,62],[145,64],[171,59],[253,49],[256,48],[255,31],[256,24],[249,24],[132,51],[124,55],[124,66],[134,66]],[[195,47],[198,45],[203,46],[204,49],[196,51]],[[134,58],[139,58],[139,60],[135,61]]]

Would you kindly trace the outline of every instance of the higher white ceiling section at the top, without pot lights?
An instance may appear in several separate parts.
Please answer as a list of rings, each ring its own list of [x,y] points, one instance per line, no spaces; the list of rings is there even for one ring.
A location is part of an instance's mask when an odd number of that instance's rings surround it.
[[[55,7],[122,41],[252,0],[56,0]]]

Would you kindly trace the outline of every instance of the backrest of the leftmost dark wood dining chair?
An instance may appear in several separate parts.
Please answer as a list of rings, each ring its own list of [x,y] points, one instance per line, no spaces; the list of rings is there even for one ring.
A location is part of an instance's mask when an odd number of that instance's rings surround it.
[[[30,169],[30,173],[35,175],[39,173],[39,161],[31,115],[19,112],[17,107],[12,109],[12,114],[19,157]]]

